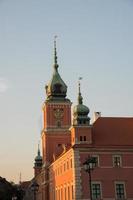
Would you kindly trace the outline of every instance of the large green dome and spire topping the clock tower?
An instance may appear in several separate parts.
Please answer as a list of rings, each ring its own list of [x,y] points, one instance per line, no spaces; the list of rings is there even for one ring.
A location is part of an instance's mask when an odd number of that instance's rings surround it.
[[[58,73],[56,40],[54,41],[54,72],[51,81],[46,85],[47,100],[49,99],[62,99],[66,97],[67,86]]]

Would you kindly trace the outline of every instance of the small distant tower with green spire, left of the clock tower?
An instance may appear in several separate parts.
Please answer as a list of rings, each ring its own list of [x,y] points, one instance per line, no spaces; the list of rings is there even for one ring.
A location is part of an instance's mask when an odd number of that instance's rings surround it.
[[[40,153],[40,148],[38,145],[38,152],[37,156],[35,157],[35,163],[34,163],[34,176],[36,177],[38,174],[40,174],[42,169],[42,156]]]

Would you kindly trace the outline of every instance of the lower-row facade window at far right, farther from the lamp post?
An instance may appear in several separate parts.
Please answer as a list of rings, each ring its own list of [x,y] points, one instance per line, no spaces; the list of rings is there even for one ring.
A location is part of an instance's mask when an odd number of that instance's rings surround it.
[[[118,200],[125,199],[124,183],[116,183],[115,184],[115,191],[116,191],[116,199],[118,199]]]

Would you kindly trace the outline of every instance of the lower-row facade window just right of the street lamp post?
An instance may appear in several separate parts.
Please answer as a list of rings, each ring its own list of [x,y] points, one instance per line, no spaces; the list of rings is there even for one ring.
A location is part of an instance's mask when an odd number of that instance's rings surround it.
[[[101,199],[101,185],[100,183],[92,183],[92,198]]]

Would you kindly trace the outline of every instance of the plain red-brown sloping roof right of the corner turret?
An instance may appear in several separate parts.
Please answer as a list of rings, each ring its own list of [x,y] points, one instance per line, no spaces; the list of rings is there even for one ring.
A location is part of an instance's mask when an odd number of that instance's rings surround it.
[[[94,145],[133,145],[133,118],[99,117],[92,137]]]

